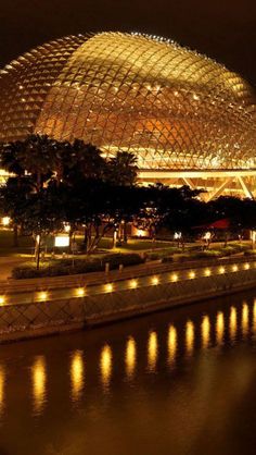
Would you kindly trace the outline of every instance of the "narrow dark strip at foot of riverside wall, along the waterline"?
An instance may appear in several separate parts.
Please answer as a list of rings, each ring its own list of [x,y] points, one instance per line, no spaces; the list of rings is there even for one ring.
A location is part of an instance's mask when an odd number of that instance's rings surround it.
[[[168,299],[158,300],[155,304],[150,302],[149,304],[143,304],[140,307],[129,309],[124,308],[118,309],[118,311],[113,311],[112,313],[98,315],[97,317],[87,318],[85,321],[4,333],[0,334],[0,344],[28,341],[37,337],[57,336],[65,333],[74,333],[82,330],[91,330],[101,325],[118,323],[126,319],[133,319],[154,312],[175,309],[181,306],[196,305],[196,303],[202,303],[203,300],[233,295],[243,291],[253,290],[255,287],[256,282],[248,282],[231,288],[229,287],[226,290],[210,291],[208,293],[195,295],[194,297],[181,296],[176,298],[175,302],[169,302]]]

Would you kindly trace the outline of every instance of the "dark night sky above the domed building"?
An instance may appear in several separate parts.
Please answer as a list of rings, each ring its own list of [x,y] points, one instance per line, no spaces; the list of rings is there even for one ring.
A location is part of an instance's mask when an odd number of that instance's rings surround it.
[[[0,0],[0,65],[52,38],[111,29],[172,38],[256,86],[256,0]]]

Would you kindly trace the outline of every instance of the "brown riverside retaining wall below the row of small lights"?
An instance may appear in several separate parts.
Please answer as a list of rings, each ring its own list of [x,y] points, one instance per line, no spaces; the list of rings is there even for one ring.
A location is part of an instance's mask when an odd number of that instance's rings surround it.
[[[253,267],[254,265],[254,267]],[[142,283],[136,288],[63,297],[52,302],[3,305],[0,307],[0,341],[77,330],[256,286],[256,263],[248,270],[182,279],[157,285]]]

